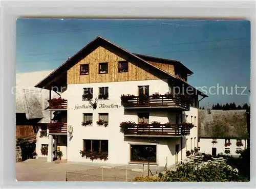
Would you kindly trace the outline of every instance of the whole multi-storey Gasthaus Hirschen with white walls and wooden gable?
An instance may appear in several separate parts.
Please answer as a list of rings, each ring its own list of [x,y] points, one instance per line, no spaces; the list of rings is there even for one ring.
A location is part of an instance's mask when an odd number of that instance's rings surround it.
[[[185,159],[198,147],[198,104],[207,97],[187,83],[191,74],[179,61],[95,38],[35,85],[49,90],[48,161],[56,150],[68,161],[106,164]]]

